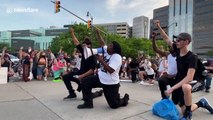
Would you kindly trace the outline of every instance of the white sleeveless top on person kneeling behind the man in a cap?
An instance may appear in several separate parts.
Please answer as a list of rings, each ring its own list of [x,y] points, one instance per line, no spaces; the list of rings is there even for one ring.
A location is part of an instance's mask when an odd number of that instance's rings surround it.
[[[168,74],[176,75],[177,74],[177,62],[176,57],[173,57],[171,54],[168,55]]]

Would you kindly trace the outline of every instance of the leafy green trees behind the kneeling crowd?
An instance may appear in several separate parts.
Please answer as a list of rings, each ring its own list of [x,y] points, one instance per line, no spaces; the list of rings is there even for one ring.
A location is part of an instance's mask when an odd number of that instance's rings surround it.
[[[99,43],[96,40],[96,32],[92,29],[87,29],[87,26],[85,24],[74,24],[72,27],[75,30],[75,35],[78,38],[80,42],[84,40],[85,36],[88,36],[91,38],[93,47],[99,47]],[[103,28],[101,30],[105,31]],[[139,51],[143,51],[145,54],[149,56],[155,56],[155,53],[152,49],[152,43],[148,39],[144,38],[123,38],[120,35],[117,34],[103,34],[101,33],[102,37],[104,38],[105,42],[110,43],[112,41],[117,41],[122,48],[122,56],[126,57],[132,57],[135,58],[138,56]],[[164,46],[166,48],[165,42],[157,41],[157,44],[160,46]],[[72,53],[75,46],[73,45],[73,42],[71,40],[70,33],[64,33],[60,36],[53,39],[50,49],[57,53],[60,49],[60,47],[63,46],[63,50],[69,54]]]

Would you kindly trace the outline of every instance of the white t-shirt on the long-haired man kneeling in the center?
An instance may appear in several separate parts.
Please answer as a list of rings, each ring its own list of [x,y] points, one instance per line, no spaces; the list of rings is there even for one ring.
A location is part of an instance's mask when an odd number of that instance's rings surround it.
[[[106,62],[108,63],[108,65],[115,71],[110,74],[109,72],[105,71],[103,68],[100,68],[98,72],[100,82],[106,85],[118,84],[120,82],[119,71],[122,65],[122,57],[116,53],[112,55],[106,54],[105,57],[106,57],[106,60],[107,60]]]

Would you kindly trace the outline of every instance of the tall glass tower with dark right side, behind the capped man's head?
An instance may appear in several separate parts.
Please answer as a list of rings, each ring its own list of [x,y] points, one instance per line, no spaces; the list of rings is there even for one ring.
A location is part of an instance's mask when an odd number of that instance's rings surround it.
[[[187,32],[192,36],[189,48],[200,57],[206,57],[213,43],[212,0],[169,0],[169,36]]]

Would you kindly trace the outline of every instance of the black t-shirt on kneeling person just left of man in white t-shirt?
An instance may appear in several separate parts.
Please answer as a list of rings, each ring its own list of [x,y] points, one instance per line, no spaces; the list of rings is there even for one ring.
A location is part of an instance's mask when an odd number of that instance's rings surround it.
[[[92,55],[89,58],[85,59],[82,45],[79,44],[79,45],[76,46],[76,48],[82,54],[80,72],[81,73],[85,73],[85,72],[87,72],[90,69],[95,70],[95,68],[97,66],[97,59],[96,59],[96,57],[94,55]]]

